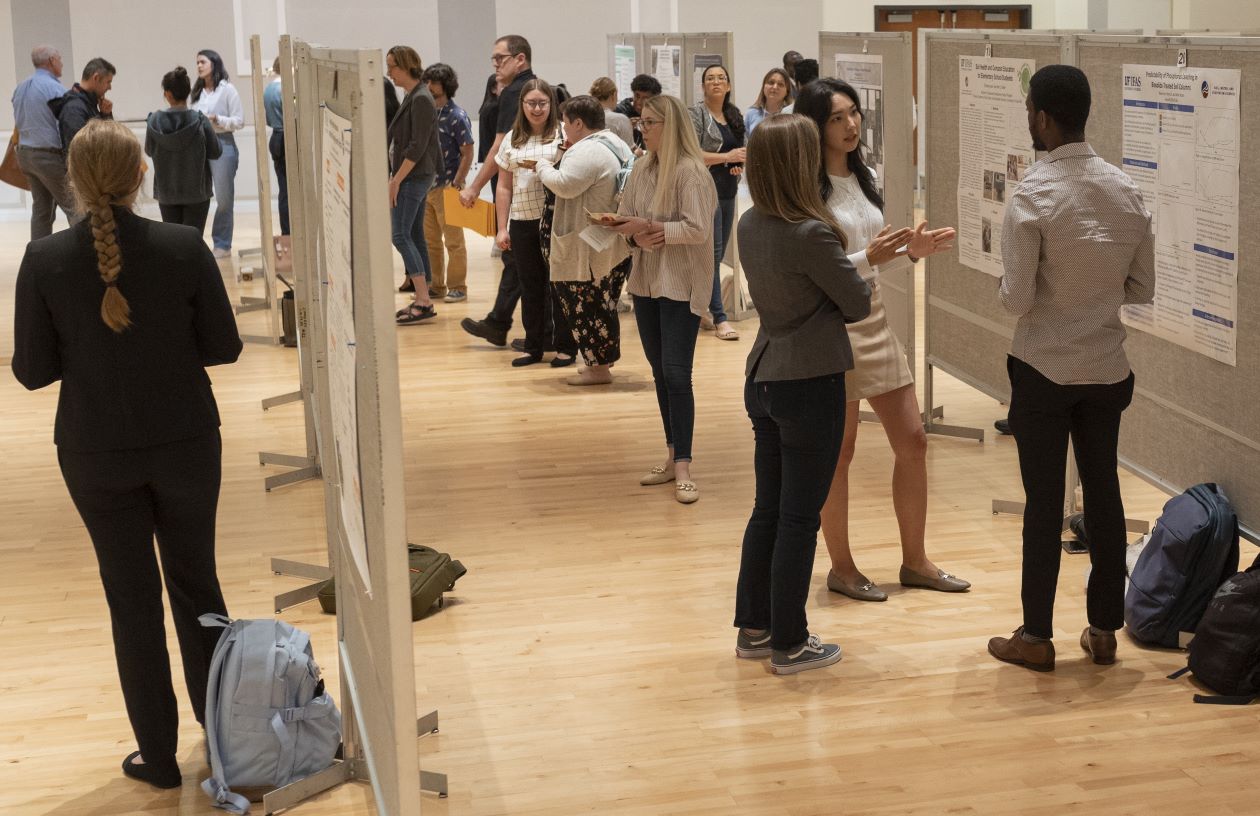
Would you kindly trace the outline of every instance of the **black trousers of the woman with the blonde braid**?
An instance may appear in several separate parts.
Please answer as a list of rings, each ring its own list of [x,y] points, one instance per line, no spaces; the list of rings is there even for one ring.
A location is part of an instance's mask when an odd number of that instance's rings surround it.
[[[219,433],[131,451],[59,450],[57,458],[96,548],[122,698],[140,752],[146,762],[174,761],[179,708],[161,588],[165,579],[184,683],[203,722],[210,657],[222,630],[205,628],[197,618],[227,615],[214,569]]]

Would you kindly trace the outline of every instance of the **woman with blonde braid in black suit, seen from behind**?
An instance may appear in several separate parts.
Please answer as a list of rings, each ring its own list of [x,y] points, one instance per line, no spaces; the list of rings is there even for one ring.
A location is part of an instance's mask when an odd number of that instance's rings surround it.
[[[92,120],[71,142],[74,227],[32,242],[18,272],[13,371],[29,389],[62,380],[57,458],[96,549],[113,650],[139,751],[130,777],[180,785],[179,706],[163,582],[198,722],[227,615],[214,569],[219,414],[205,366],[241,354],[218,264],[202,235],[131,212],[140,142]],[[161,560],[154,557],[154,538]]]

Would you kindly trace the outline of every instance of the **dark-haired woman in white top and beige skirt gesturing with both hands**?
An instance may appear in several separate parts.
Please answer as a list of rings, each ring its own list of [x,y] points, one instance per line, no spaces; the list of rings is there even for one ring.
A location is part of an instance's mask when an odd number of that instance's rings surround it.
[[[892,446],[892,506],[901,533],[901,584],[963,592],[971,584],[939,569],[927,558],[927,438],[906,354],[888,327],[879,297],[879,264],[906,256],[917,262],[954,244],[954,229],[893,229],[883,220],[883,196],[862,160],[862,105],[857,91],[838,79],[820,78],[801,89],[796,113],[818,125],[823,147],[819,181],[823,198],[849,237],[849,256],[871,285],[871,315],[849,324],[853,370],[845,375],[844,442],[832,490],[823,506],[823,535],[832,557],[827,587],[858,601],[888,596],[853,563],[849,552],[849,465],[857,442],[858,402],[866,399]]]

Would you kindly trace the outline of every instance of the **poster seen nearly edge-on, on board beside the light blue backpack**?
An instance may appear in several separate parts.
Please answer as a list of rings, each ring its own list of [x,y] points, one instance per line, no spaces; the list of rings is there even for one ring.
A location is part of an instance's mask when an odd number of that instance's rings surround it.
[[[359,475],[359,411],[355,378],[354,266],[350,237],[350,121],[324,113],[324,303],[328,335],[328,390],[333,450],[341,481],[341,528],[345,544],[368,577],[368,541],[363,525],[363,480]],[[328,451],[324,452],[328,462]]]

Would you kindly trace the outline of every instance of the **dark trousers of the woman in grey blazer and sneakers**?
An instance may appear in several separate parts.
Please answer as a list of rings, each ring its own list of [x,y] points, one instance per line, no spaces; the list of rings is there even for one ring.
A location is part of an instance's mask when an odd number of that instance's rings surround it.
[[[772,649],[809,637],[805,601],[818,528],[844,438],[844,375],[743,385],[757,494],[743,533],[735,625],[770,630]]]

